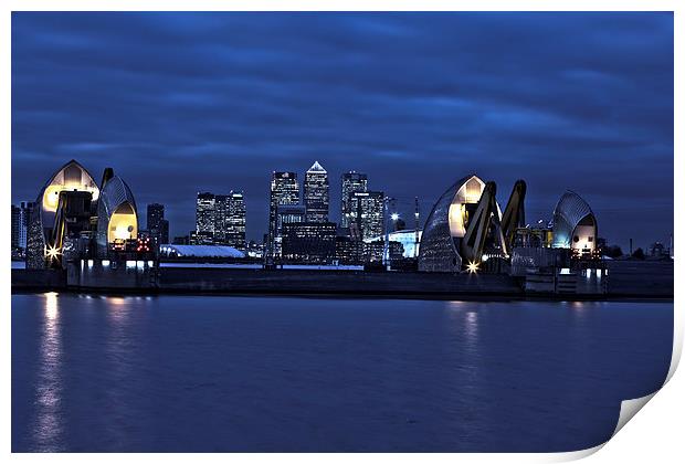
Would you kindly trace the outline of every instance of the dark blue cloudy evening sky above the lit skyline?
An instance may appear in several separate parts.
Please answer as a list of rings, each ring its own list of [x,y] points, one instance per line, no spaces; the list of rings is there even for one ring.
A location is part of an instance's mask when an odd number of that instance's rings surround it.
[[[528,182],[528,222],[569,188],[625,246],[673,230],[671,13],[13,13],[12,201],[71,158],[194,228],[198,190],[318,159],[423,218],[457,178]],[[143,219],[145,225],[145,219]]]

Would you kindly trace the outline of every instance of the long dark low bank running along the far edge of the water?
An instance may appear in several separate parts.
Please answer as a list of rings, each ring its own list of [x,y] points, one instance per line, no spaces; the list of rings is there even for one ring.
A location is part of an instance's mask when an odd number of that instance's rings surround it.
[[[504,274],[162,267],[155,286],[103,278],[67,285],[66,272],[12,270],[12,293],[70,292],[127,295],[312,296],[398,299],[673,300],[673,262],[610,262],[607,291],[551,293],[524,289]]]

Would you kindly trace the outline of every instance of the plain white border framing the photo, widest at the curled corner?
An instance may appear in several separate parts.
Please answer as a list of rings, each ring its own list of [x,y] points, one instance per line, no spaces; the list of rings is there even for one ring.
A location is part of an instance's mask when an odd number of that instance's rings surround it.
[[[251,1],[251,2],[236,2],[236,1],[219,1],[219,0],[194,0],[194,1],[152,1],[152,0],[119,0],[119,1],[86,1],[86,0],[63,0],[56,2],[54,0],[6,0],[2,2],[1,9],[1,25],[0,33],[2,40],[0,40],[0,82],[2,83],[2,98],[0,98],[0,105],[3,110],[1,113],[0,124],[0,143],[3,147],[3,169],[1,176],[3,177],[2,184],[7,192],[7,198],[11,198],[10,182],[11,182],[11,83],[10,83],[10,66],[11,66],[11,11],[115,11],[115,10],[128,10],[128,11],[150,11],[150,10],[172,10],[172,11],[204,11],[204,10],[234,10],[234,11],[302,11],[302,10],[317,10],[317,11],[674,11],[675,14],[675,127],[681,130],[675,130],[675,211],[682,211],[683,199],[685,192],[683,191],[683,176],[685,173],[685,161],[683,158],[683,138],[682,131],[685,128],[683,119],[683,80],[685,73],[683,73],[683,53],[685,48],[683,46],[683,27],[685,21],[683,20],[683,13],[685,2],[675,0],[655,0],[655,1],[635,1],[635,0],[576,0],[576,1],[435,1],[424,0],[422,2],[408,1],[408,0],[373,0],[373,1],[359,1],[359,0],[330,0],[330,1],[314,1],[314,0],[295,0],[295,1]],[[9,211],[9,204],[6,204],[6,211]],[[683,238],[683,218],[675,214],[675,231],[674,241],[679,245]],[[0,243],[9,243],[10,236],[10,221],[7,220],[2,225],[2,240]],[[679,251],[678,251],[679,252]],[[6,263],[10,261],[10,253],[7,247],[2,247],[2,256]],[[1,359],[3,370],[6,372],[4,381],[2,382],[2,403],[3,418],[1,421],[1,432],[3,437],[3,451],[10,453],[10,433],[11,433],[11,352],[10,352],[10,266],[0,266],[0,273],[2,273],[2,282],[6,285],[4,304],[2,305],[3,317],[1,337],[4,341],[4,349],[1,351]],[[668,379],[673,377],[677,361],[681,358],[682,345],[683,345],[683,305],[681,292],[678,291],[678,284],[683,284],[683,270],[682,265],[676,262],[675,266],[675,342],[674,354]],[[621,461],[621,462],[644,462],[645,460],[655,460],[657,462],[671,462],[678,461],[683,453],[682,440],[682,424],[683,412],[685,412],[685,401],[683,393],[685,392],[685,380],[683,375],[675,376],[668,381],[667,388],[654,397],[650,403],[650,408],[640,413],[640,420],[631,421],[621,432],[608,444],[607,450],[596,454],[592,458],[598,462],[604,460]],[[650,397],[651,398],[651,397]],[[632,402],[630,404],[635,404]],[[603,446],[597,446],[596,449],[584,450],[573,453],[558,453],[558,454],[356,454],[355,460],[363,462],[377,461],[379,458],[388,458],[394,462],[417,462],[430,460],[433,462],[450,462],[453,460],[467,460],[468,462],[555,462],[555,461],[568,461],[573,458],[583,457],[593,454],[596,451]],[[4,454],[3,453],[3,454]],[[164,458],[169,462],[186,462],[188,457],[192,460],[207,460],[212,462],[220,462],[226,458],[221,454],[133,454],[126,455],[125,458]],[[671,458],[670,458],[671,457]],[[123,458],[120,454],[14,454],[13,460],[22,462],[42,461],[45,458],[61,461],[61,462],[89,462],[93,458],[97,458],[103,462],[115,462]],[[345,454],[231,454],[231,460],[239,462],[254,462],[262,458],[274,458],[280,462],[286,463],[317,463],[322,458],[330,462],[344,462],[350,458]]]

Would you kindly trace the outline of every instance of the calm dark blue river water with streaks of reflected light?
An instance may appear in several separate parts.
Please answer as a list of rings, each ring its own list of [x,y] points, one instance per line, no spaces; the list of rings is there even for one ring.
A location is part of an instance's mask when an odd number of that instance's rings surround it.
[[[572,451],[673,303],[12,296],[12,451]]]

